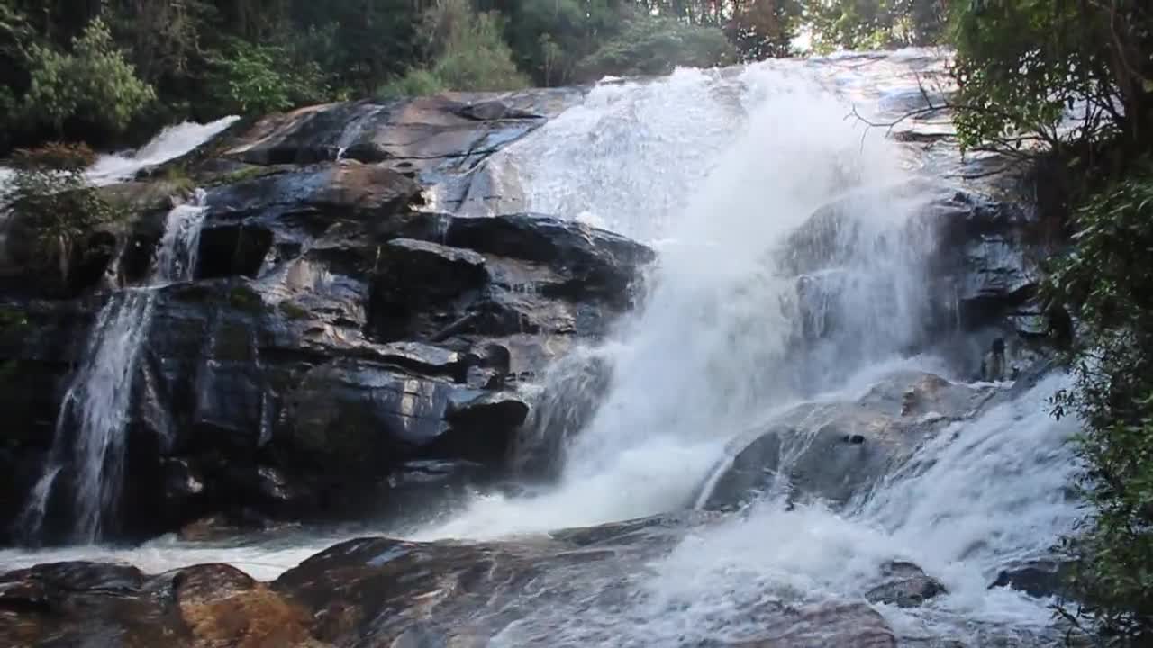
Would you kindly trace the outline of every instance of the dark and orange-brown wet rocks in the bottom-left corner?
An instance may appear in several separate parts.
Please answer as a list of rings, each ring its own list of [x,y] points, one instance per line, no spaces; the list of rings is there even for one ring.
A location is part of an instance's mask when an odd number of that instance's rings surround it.
[[[322,648],[303,610],[234,567],[145,579],[135,567],[67,563],[0,577],[5,646]]]

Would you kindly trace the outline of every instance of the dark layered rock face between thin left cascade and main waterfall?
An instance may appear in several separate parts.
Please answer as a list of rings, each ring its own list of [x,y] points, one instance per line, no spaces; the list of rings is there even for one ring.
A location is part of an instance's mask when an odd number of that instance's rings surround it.
[[[398,489],[414,497],[499,474],[530,410],[520,382],[601,336],[655,255],[544,214],[438,213],[424,193],[571,99],[318,106],[242,123],[171,163],[205,190],[204,224],[194,280],[151,288],[113,537],[209,517],[389,514],[404,508]],[[113,234],[125,254],[96,274],[148,274],[165,209],[146,189],[160,183],[110,189],[151,198]],[[17,476],[0,497],[7,522],[43,469],[107,293],[6,294],[0,380],[13,385],[0,399],[16,416],[0,465]],[[39,541],[63,537],[62,499],[50,499]]]

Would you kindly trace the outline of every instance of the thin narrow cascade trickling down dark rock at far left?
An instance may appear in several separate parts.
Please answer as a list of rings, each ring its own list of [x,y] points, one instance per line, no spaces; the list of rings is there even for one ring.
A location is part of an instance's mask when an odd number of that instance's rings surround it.
[[[114,517],[120,498],[133,380],[157,288],[193,279],[208,210],[204,197],[197,190],[195,202],[168,212],[145,284],[113,293],[97,316],[83,362],[65,392],[44,475],[21,517],[25,538],[40,536],[50,498],[66,468],[73,482],[73,538],[91,543],[104,537],[104,521]]]

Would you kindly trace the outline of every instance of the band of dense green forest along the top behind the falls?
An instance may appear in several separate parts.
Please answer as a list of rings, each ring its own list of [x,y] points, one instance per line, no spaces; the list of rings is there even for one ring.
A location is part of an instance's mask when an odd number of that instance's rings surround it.
[[[0,0],[0,155],[309,103],[922,44],[942,0]]]

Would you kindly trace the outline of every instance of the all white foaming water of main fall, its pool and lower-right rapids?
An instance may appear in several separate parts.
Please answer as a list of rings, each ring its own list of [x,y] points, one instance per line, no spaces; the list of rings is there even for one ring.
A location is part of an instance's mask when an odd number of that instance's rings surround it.
[[[911,50],[606,81],[487,163],[503,198],[491,210],[580,219],[661,253],[635,314],[581,351],[612,367],[596,412],[581,429],[538,430],[565,435],[556,485],[478,492],[420,526],[7,550],[0,567],[83,558],[158,572],[225,562],[266,579],[369,533],[467,541],[656,514],[691,507],[726,442],[791,405],[851,400],[898,368],[969,382],[929,337],[932,236],[917,219],[962,163],[937,146],[913,151],[853,115],[884,120],[917,107],[918,83],[932,90],[942,65],[934,52]],[[948,119],[909,126],[940,131]],[[116,164],[98,164],[95,178],[121,173]],[[821,277],[831,287],[817,315],[839,324],[800,348],[807,315],[785,268],[790,236],[830,204],[852,234],[836,240],[842,263]],[[1000,566],[1043,553],[1077,519],[1065,492],[1075,423],[1054,421],[1046,402],[1064,380],[1011,392],[996,385],[997,405],[951,423],[845,510],[766,497],[647,565],[631,581],[635,595],[611,613],[588,618],[574,601],[525,623],[551,624],[576,645],[600,645],[609,628],[618,639],[605,645],[671,646],[746,623],[751,601],[861,600],[881,564],[906,559],[949,594],[917,609],[879,605],[903,640],[948,633],[979,646],[990,628],[1045,632],[1048,601],[987,586]],[[510,626],[495,642],[523,645],[517,638]]]

